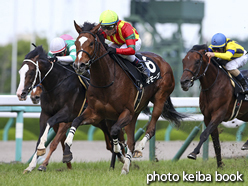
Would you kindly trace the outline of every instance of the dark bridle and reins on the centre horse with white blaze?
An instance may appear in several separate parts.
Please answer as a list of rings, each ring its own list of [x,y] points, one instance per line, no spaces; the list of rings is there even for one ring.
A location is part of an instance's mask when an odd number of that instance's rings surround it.
[[[92,56],[91,56],[87,51],[85,51],[85,50],[78,50],[78,51],[77,51],[77,55],[79,54],[79,52],[84,52],[84,53],[86,53],[86,54],[88,55],[89,61],[87,61],[86,63],[84,63],[84,65],[85,65],[87,68],[90,68],[91,65],[92,65],[93,63],[95,63],[95,62],[98,61],[99,59],[101,59],[101,58],[103,58],[104,56],[106,56],[106,55],[108,54],[108,52],[106,52],[105,54],[103,54],[103,55],[101,55],[100,57],[98,57],[98,56],[97,56],[97,51],[100,50],[100,43],[97,41],[96,35],[93,34],[93,33],[90,32],[90,31],[82,31],[80,34],[82,34],[82,33],[89,33],[89,34],[91,34],[91,35],[94,37],[94,45],[95,45],[95,47],[94,47],[94,53],[93,53]],[[114,81],[115,81],[115,63],[114,63],[114,80],[113,80],[111,83],[109,83],[108,85],[105,85],[105,86],[97,86],[97,85],[93,85],[93,84],[90,82],[90,85],[91,85],[92,87],[94,87],[94,88],[108,88],[108,87],[110,87],[111,85],[114,84]]]

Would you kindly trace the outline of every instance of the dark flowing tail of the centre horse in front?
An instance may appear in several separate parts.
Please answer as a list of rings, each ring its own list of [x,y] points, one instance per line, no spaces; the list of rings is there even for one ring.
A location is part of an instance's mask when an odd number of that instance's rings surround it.
[[[180,127],[182,119],[187,117],[186,115],[181,114],[175,110],[171,102],[170,96],[168,97],[168,99],[166,100],[164,104],[164,108],[163,108],[161,116],[162,118],[173,122],[177,128]]]

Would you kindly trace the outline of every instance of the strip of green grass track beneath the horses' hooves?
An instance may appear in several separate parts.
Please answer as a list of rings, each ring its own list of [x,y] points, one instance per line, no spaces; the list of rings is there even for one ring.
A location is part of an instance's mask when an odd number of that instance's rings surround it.
[[[247,159],[224,159],[225,167],[216,168],[216,160],[210,159],[207,162],[202,159],[196,161],[183,159],[178,162],[171,161],[133,161],[128,175],[120,175],[122,164],[116,163],[114,170],[109,170],[110,162],[73,163],[73,170],[67,170],[65,164],[50,163],[46,172],[39,172],[37,168],[29,174],[23,175],[26,164],[0,164],[0,185],[6,186],[142,186],[147,185],[147,174],[178,174],[179,182],[156,181],[150,185],[248,185]],[[196,175],[211,174],[212,182],[189,182],[183,181],[183,171],[187,174]],[[243,174],[243,182],[216,182],[215,172],[219,174],[236,174],[239,171]]]

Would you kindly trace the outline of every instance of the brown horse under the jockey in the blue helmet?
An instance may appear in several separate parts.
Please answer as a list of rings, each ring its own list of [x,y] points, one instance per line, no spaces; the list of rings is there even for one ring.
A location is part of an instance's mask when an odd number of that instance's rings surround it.
[[[207,49],[207,45],[195,45],[183,59],[181,87],[184,91],[187,91],[193,86],[194,81],[199,79],[201,83],[200,109],[204,115],[204,123],[206,125],[206,129],[200,136],[200,142],[194,151],[188,155],[188,158],[196,159],[202,144],[211,134],[217,166],[221,167],[223,162],[217,126],[222,121],[230,119],[236,97],[234,96],[234,88],[231,85],[230,77],[205,55]],[[247,75],[247,71],[243,73]],[[248,121],[247,112],[248,102],[244,101],[237,118]],[[242,149],[247,149],[245,147],[246,145]]]

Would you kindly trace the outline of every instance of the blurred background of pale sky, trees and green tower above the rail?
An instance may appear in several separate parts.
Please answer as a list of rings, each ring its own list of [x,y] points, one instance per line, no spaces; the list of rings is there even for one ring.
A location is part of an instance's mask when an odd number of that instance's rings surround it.
[[[198,96],[199,82],[180,88],[182,59],[195,44],[210,44],[221,32],[248,50],[246,0],[0,0],[0,94],[15,94],[18,70],[31,43],[48,51],[51,39],[62,34],[77,37],[73,21],[99,21],[104,10],[131,22],[143,41],[141,51],[153,51],[173,68],[172,96]],[[248,66],[243,68],[248,69]]]

